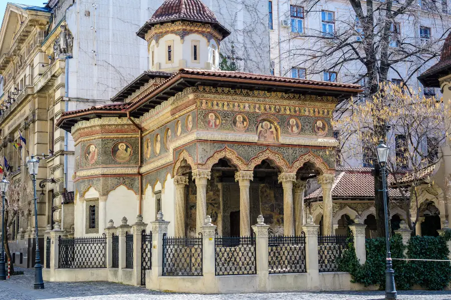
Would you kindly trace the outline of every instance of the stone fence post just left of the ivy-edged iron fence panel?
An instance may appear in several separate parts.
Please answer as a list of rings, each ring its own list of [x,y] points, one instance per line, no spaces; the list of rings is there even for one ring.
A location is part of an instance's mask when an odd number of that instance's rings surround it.
[[[318,266],[318,228],[319,225],[313,223],[313,217],[307,217],[306,224],[302,226],[305,233],[305,262],[310,280],[307,283],[309,290],[319,290],[319,266]]]

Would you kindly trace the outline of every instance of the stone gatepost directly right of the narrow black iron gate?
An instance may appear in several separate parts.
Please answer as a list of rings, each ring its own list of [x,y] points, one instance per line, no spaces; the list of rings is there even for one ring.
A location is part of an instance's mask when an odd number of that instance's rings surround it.
[[[163,213],[158,211],[152,225],[152,269],[146,274],[146,287],[159,290],[158,276],[163,274],[163,234],[167,234],[168,221],[163,219]]]

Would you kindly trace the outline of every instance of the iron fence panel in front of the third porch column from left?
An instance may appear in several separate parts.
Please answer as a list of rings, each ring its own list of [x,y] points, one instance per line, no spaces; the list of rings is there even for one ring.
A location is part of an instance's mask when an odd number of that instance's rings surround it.
[[[255,233],[245,237],[214,239],[214,271],[216,275],[256,274]]]

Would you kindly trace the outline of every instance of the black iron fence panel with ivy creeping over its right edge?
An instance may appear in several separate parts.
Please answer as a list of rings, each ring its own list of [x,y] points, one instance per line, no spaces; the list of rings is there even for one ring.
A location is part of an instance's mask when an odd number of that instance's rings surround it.
[[[348,248],[346,235],[320,235],[318,236],[318,266],[320,272],[338,271],[337,258]]]

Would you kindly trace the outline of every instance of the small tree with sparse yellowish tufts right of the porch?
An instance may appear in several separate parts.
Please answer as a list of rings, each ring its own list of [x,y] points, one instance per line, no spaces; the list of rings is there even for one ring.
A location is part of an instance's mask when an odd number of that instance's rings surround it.
[[[419,90],[407,90],[392,83],[380,85],[372,100],[350,101],[348,113],[334,122],[340,139],[345,140],[341,149],[343,159],[358,155],[368,164],[377,164],[374,149],[380,140],[394,141],[387,168],[391,183],[401,195],[401,206],[411,229],[422,208],[416,187],[433,184],[428,175],[441,158],[438,148],[450,140],[445,132],[451,129],[447,121],[451,111],[442,99],[420,96],[419,93]],[[384,126],[390,127],[388,136],[379,130]],[[443,184],[446,186],[446,182]],[[415,213],[413,224],[411,211]],[[377,213],[376,218],[380,217],[383,222],[384,212]],[[378,223],[378,235],[384,233],[383,227]]]

